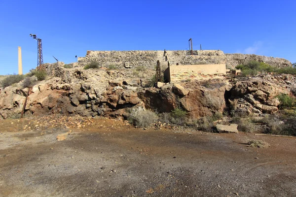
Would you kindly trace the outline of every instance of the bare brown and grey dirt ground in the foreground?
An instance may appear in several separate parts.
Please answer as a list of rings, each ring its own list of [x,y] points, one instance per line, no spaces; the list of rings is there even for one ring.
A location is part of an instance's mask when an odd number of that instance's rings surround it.
[[[38,124],[0,120],[1,197],[296,196],[296,137],[143,130],[105,118],[74,129]]]

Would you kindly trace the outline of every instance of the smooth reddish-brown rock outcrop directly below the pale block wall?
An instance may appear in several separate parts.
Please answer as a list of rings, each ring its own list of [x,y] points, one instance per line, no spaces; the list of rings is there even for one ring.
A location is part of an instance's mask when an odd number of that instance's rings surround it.
[[[229,86],[226,84],[220,88],[198,87],[194,90],[185,89],[179,84],[168,84],[160,89],[150,88],[138,93],[138,96],[147,108],[159,112],[171,112],[175,108],[181,108],[188,111],[191,117],[197,118],[222,112],[225,108],[224,94],[227,89]]]

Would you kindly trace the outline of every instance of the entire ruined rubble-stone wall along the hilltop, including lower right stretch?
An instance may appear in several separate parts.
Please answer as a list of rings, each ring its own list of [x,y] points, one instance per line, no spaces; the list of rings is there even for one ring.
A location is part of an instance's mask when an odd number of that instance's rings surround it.
[[[226,64],[234,68],[238,64],[256,60],[265,62],[271,66],[292,66],[291,62],[281,58],[272,58],[258,55],[224,54],[220,50],[195,50],[193,55],[190,51],[167,51],[171,65],[198,65],[203,62],[207,64]],[[98,62],[101,66],[115,65],[117,68],[134,68],[145,66],[154,69],[157,60],[162,67],[167,67],[163,51],[87,51],[85,57],[78,58],[78,64],[85,66],[91,62]]]

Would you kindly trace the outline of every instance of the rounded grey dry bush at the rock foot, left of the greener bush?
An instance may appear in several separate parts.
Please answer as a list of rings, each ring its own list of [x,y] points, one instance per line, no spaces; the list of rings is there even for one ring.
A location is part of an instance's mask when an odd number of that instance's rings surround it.
[[[158,116],[150,110],[132,108],[128,113],[128,120],[137,127],[148,127],[158,120]]]

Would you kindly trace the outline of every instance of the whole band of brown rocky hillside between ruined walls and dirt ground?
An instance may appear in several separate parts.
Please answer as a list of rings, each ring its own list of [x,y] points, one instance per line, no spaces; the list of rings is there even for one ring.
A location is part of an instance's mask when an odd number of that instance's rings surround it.
[[[130,71],[48,67],[49,77],[32,89],[25,116],[78,114],[124,117],[128,108],[145,107],[158,112],[182,108],[191,117],[209,116],[225,109],[247,113],[275,113],[279,94],[296,93],[296,77],[262,75],[212,81],[189,81],[145,88],[147,80]],[[153,71],[143,71],[147,78]],[[0,89],[0,118],[21,113],[28,88],[18,84]]]

